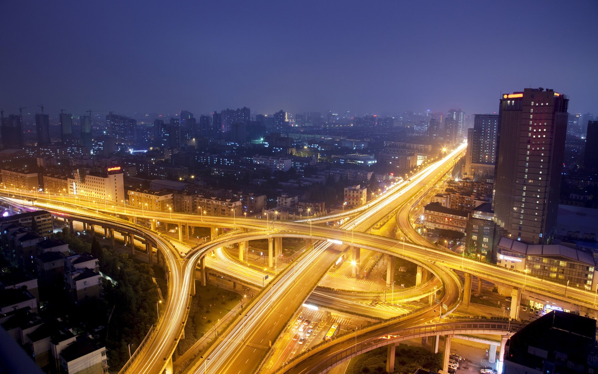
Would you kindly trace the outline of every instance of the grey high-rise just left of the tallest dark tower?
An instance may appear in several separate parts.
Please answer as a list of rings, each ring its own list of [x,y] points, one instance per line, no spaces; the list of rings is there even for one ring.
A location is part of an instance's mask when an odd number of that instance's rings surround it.
[[[463,175],[494,178],[498,114],[475,114],[474,128],[468,129]]]

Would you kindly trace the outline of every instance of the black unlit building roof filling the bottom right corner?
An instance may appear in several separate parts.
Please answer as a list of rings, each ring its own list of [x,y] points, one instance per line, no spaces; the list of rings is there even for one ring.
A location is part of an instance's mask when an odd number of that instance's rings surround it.
[[[553,310],[523,326],[505,346],[504,373],[596,373],[596,320]]]

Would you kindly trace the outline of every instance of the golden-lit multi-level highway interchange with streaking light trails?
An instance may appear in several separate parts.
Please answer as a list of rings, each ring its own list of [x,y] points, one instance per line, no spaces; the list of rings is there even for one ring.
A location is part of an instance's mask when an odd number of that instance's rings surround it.
[[[388,253],[392,256],[405,257],[421,263],[431,270],[443,283],[444,292],[441,297],[441,303],[449,306],[447,308],[449,311],[462,298],[460,282],[450,269],[463,269],[481,278],[515,287],[521,287],[523,284],[526,284],[527,289],[539,294],[545,294],[553,298],[556,297],[557,299],[559,297],[566,300],[574,299],[578,300],[577,303],[581,305],[595,308],[594,303],[591,302],[591,300],[594,300],[593,293],[569,288],[567,297],[564,297],[563,288],[565,286],[533,278],[532,276],[525,276],[521,273],[510,272],[491,264],[463,259],[448,251],[430,248],[426,241],[414,234],[413,227],[409,223],[408,212],[413,208],[417,200],[427,193],[429,188],[432,188],[435,183],[450,171],[452,165],[454,165],[454,160],[458,159],[462,151],[463,146],[447,155],[443,160],[433,163],[418,172],[411,177],[411,181],[404,181],[404,183],[390,187],[389,191],[364,207],[347,209],[343,214],[334,214],[332,217],[315,217],[312,219],[312,222],[309,219],[298,222],[269,222],[267,220],[255,220],[252,218],[235,218],[233,221],[228,217],[199,217],[197,215],[178,213],[172,214],[170,216],[172,218],[170,218],[169,216],[164,217],[164,213],[161,212],[156,214],[155,212],[142,211],[130,207],[126,208],[129,211],[126,216],[131,217],[134,214],[136,220],[153,219],[170,223],[184,222],[196,227],[216,226],[237,229],[227,235],[209,241],[205,245],[202,245],[202,247],[190,251],[185,257],[179,256],[181,245],[175,244],[176,241],[164,238],[164,235],[160,235],[147,228],[141,228],[139,225],[132,225],[123,220],[115,220],[115,217],[101,212],[102,203],[99,204],[100,206],[96,203],[96,208],[100,209],[94,210],[90,209],[90,200],[79,199],[79,201],[72,203],[70,199],[67,199],[69,201],[66,202],[65,197],[63,197],[61,203],[56,197],[52,200],[51,196],[47,196],[46,199],[44,195],[40,196],[39,193],[35,193],[35,205],[75,220],[87,219],[96,222],[96,224],[105,223],[114,225],[118,223],[127,226],[127,229],[135,227],[136,230],[142,232],[139,236],[151,238],[152,241],[158,244],[158,250],[164,254],[164,259],[169,269],[169,299],[167,300],[166,309],[161,316],[160,322],[155,326],[154,332],[152,332],[148,339],[148,343],[136,354],[135,360],[130,363],[130,366],[126,367],[126,372],[131,373],[160,373],[169,365],[170,356],[176,348],[176,341],[181,336],[182,327],[187,318],[191,282],[195,279],[195,268],[200,258],[212,250],[217,251],[222,245],[248,239],[284,236],[311,238],[319,242],[314,246],[313,250],[306,251],[300,259],[292,263],[292,266],[280,272],[274,278],[274,281],[264,288],[260,297],[256,297],[252,305],[244,309],[243,314],[239,316],[236,323],[232,324],[221,335],[221,338],[215,345],[210,346],[208,352],[205,352],[205,357],[210,358],[209,361],[196,360],[193,366],[188,368],[187,372],[253,372],[260,365],[264,353],[268,351],[270,342],[275,342],[276,336],[285,327],[301,303],[312,293],[318,280],[328,270],[329,266],[337,260],[341,251],[347,245],[368,248],[381,253]],[[9,192],[6,189],[4,191],[5,195],[9,195],[13,202],[17,201],[26,204],[23,202],[22,195],[29,196],[28,191],[19,191],[19,198],[16,196],[16,191]],[[33,197],[33,193],[30,197]],[[83,205],[86,203],[88,207],[84,209]],[[105,210],[109,213],[112,208],[106,207]],[[397,219],[401,223],[401,229],[405,230],[404,232],[407,233],[410,240],[416,242],[416,244],[364,233],[364,231],[377,223],[380,218],[389,215],[397,208],[399,209]],[[124,215],[124,212],[121,212],[120,208],[118,209],[118,212]],[[341,229],[316,224],[316,222],[325,222],[327,220],[338,221],[342,218],[352,219],[344,222],[344,227]],[[238,230],[239,228],[244,230]],[[334,238],[343,244],[338,245],[326,241],[329,238]],[[173,244],[178,248],[175,248]],[[231,271],[231,268],[237,269],[240,265],[237,262],[234,262],[233,266],[230,263],[225,264],[223,257],[218,257],[219,260],[210,259],[210,256],[206,257],[207,266],[213,266],[216,269],[219,268],[218,270],[222,272]],[[233,271],[237,272],[238,269]],[[246,279],[249,279],[254,284],[257,283],[256,280],[258,277],[260,281],[263,278],[263,274],[255,269],[245,269],[242,275],[246,276]],[[239,273],[236,273],[236,276],[239,276]],[[345,306],[352,305],[352,308],[357,308],[356,305],[358,304],[352,303],[350,300],[339,301],[338,299],[344,300],[345,298],[339,298],[329,292],[316,291],[310,297],[316,299],[318,297],[323,298],[320,299],[320,302],[325,302],[325,300],[334,300],[335,303],[346,302]],[[375,306],[361,306],[361,308],[363,312],[368,309],[375,309]],[[413,314],[395,318],[388,326],[385,325],[386,327],[380,328],[390,331],[402,326],[410,327],[429,323],[438,318],[438,311],[435,311],[435,309],[439,309],[438,305],[432,304]],[[382,335],[382,330],[376,330],[374,335],[378,333]],[[358,334],[357,340],[366,338],[365,332],[363,333],[364,336],[359,336],[359,332],[356,334]],[[370,333],[368,332],[368,334]],[[343,339],[337,340],[339,345],[343,341]],[[334,346],[334,344],[328,346]],[[330,350],[331,348],[327,349]],[[328,354],[332,354],[332,351],[329,351]],[[256,352],[260,354],[256,354]],[[273,360],[276,361],[276,358]],[[286,372],[306,372],[305,370],[307,369],[299,368],[306,367],[306,365],[309,366],[309,362],[307,361],[294,360],[292,363],[292,365],[285,366]],[[239,366],[239,364],[242,364],[242,366]],[[276,362],[270,364],[264,362],[263,366],[271,372],[276,369]],[[300,371],[295,371],[295,369],[291,369],[292,367],[296,367]]]

